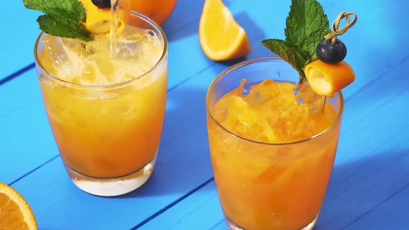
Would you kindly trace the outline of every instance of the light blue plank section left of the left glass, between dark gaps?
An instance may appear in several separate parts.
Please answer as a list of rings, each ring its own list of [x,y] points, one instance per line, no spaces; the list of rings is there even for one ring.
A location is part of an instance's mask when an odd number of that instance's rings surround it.
[[[1,182],[10,184],[58,154],[35,69],[0,86],[0,127]]]

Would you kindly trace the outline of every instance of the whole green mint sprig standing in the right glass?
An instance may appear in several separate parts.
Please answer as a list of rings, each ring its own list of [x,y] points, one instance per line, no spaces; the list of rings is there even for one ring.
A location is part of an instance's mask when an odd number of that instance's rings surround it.
[[[304,67],[317,60],[315,48],[330,32],[328,17],[318,1],[292,0],[284,30],[286,39],[265,39],[261,44],[291,64],[304,82]]]

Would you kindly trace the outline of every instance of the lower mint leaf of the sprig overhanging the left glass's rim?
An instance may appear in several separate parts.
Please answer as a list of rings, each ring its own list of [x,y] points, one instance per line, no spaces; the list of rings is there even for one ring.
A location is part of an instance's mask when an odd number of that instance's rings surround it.
[[[92,34],[77,22],[51,15],[42,15],[37,21],[45,33],[58,37],[79,38],[85,42],[92,40]]]

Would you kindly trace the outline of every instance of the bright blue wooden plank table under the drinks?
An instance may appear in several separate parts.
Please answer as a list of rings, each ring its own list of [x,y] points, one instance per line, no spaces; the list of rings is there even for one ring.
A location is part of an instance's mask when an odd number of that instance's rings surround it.
[[[252,45],[284,38],[290,0],[225,0]],[[0,20],[0,181],[23,195],[39,228],[227,229],[211,170],[204,97],[234,62],[213,62],[198,41],[203,0],[179,0],[168,37],[168,101],[157,166],[121,197],[97,197],[70,181],[46,120],[33,46],[39,13],[8,1]],[[322,0],[330,21],[358,14],[340,37],[356,81],[343,90],[336,162],[315,229],[409,229],[409,1]]]

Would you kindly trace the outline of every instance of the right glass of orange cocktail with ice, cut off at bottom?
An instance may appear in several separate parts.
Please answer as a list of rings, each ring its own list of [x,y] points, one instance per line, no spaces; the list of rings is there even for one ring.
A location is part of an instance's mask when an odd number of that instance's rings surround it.
[[[312,229],[317,220],[343,98],[298,80],[290,64],[266,57],[228,68],[207,91],[211,163],[230,229]]]

